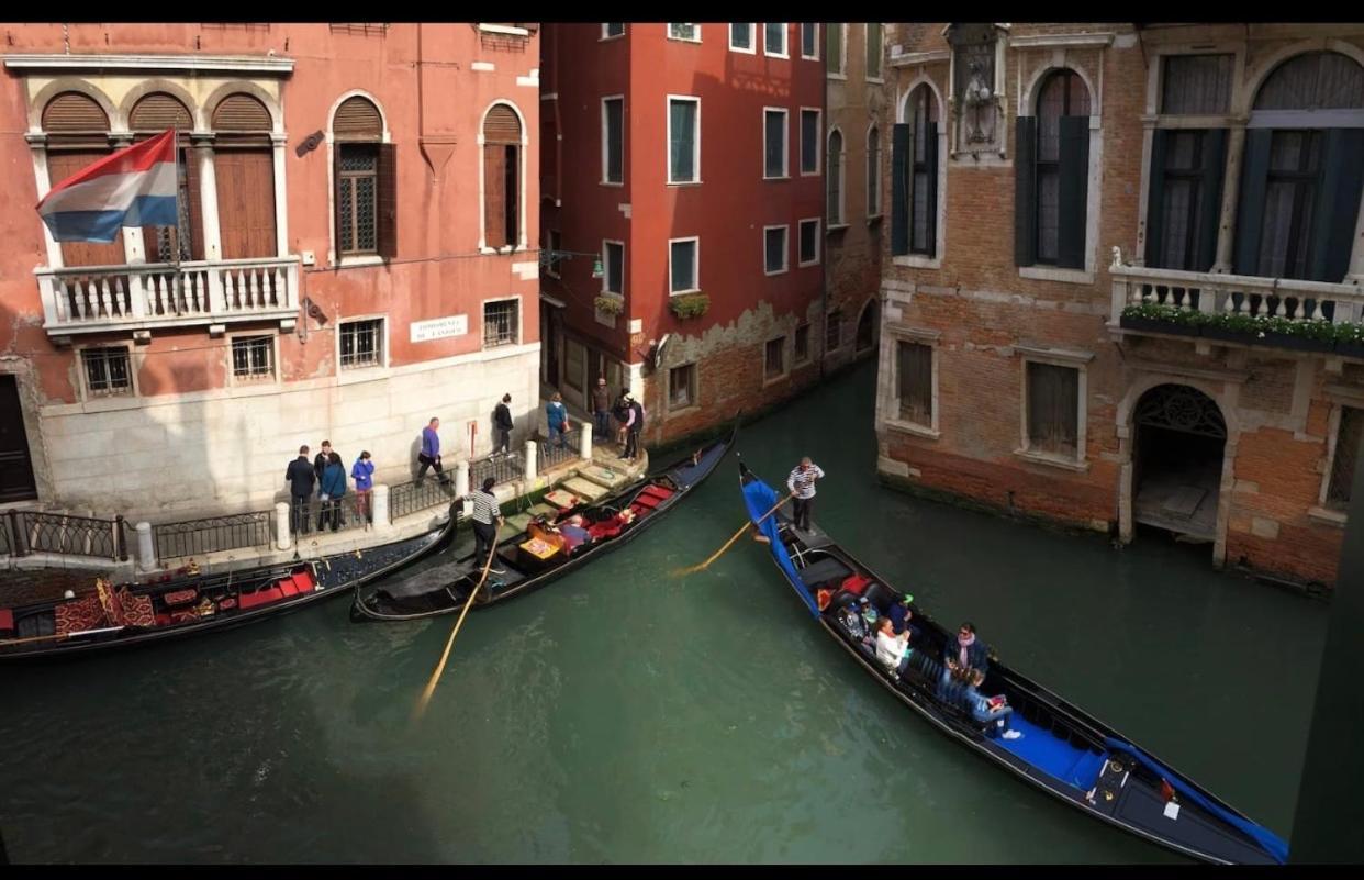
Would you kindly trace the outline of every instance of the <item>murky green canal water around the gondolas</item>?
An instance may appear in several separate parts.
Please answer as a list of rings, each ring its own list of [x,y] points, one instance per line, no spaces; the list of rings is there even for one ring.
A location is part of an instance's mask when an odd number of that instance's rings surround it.
[[[1288,836],[1327,607],[1207,563],[883,488],[863,364],[743,430],[809,454],[816,518],[944,621]],[[904,708],[738,543],[737,468],[638,542],[469,615],[348,600],[82,662],[0,667],[19,862],[1172,862]]]

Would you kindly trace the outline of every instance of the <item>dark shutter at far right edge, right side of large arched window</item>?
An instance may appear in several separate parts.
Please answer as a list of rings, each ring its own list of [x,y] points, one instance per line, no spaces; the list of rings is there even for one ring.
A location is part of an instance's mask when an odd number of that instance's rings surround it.
[[[1308,278],[1345,278],[1350,270],[1350,246],[1364,183],[1364,128],[1330,128],[1322,145],[1320,198],[1312,217],[1312,252]]]

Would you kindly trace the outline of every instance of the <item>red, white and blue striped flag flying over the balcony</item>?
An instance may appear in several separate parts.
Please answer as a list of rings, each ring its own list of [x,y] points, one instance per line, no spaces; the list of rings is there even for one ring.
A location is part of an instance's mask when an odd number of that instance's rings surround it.
[[[71,175],[41,202],[38,216],[57,241],[102,241],[119,226],[175,226],[175,130],[135,143]]]

